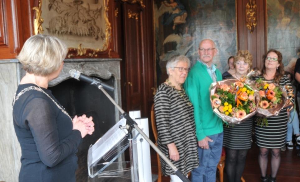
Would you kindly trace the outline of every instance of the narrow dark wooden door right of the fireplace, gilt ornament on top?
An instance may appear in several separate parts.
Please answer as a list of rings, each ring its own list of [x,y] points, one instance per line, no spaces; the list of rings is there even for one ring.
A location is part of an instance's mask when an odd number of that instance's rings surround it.
[[[124,3],[125,83],[127,110],[141,110],[142,96],[142,20],[137,4]]]

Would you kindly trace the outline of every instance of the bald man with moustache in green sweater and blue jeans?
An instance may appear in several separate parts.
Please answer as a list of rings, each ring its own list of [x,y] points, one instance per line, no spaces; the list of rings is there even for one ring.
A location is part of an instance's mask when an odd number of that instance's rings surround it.
[[[217,53],[212,40],[202,40],[198,49],[199,59],[184,83],[185,91],[194,105],[200,163],[192,171],[192,182],[215,182],[222,152],[223,124],[213,113],[209,99],[210,84],[222,80],[221,72],[213,64],[213,57]]]

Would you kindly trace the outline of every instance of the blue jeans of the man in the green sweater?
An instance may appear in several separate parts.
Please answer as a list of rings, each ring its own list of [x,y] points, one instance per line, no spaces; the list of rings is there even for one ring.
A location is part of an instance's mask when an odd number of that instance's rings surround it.
[[[216,182],[217,165],[222,153],[223,132],[207,137],[213,142],[208,142],[209,149],[198,147],[200,165],[192,170],[192,182]]]

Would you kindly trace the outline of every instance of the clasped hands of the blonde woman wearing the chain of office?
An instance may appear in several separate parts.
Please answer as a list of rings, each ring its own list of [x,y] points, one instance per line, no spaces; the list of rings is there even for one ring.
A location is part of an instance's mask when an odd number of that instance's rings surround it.
[[[84,138],[87,134],[91,135],[95,131],[93,117],[87,117],[85,114],[82,116],[75,116],[72,119],[73,130],[77,129],[81,133],[81,137]]]

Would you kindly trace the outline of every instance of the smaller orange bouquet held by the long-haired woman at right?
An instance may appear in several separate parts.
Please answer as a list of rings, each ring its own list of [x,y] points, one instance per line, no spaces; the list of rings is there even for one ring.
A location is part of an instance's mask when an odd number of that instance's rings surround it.
[[[255,87],[259,91],[260,103],[257,109],[257,123],[268,126],[267,117],[277,116],[280,110],[286,107],[290,100],[288,95],[293,95],[293,89],[289,86],[280,87],[274,83],[263,81],[262,78],[255,80]]]

